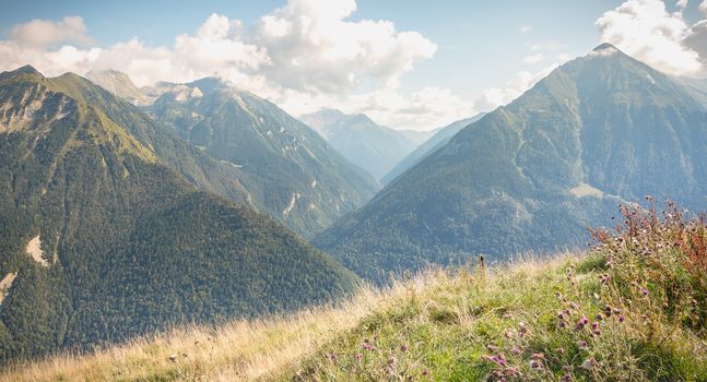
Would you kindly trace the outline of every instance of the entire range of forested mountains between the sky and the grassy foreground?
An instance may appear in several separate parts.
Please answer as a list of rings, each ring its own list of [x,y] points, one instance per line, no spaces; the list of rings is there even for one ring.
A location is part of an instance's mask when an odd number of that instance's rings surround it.
[[[0,73],[0,363],[584,247],[646,195],[707,202],[707,83],[609,44],[431,132],[86,76]]]

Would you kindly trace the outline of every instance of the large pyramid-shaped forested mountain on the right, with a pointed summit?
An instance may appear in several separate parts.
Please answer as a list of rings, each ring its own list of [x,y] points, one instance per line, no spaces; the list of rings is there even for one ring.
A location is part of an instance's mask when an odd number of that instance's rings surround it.
[[[584,246],[616,205],[707,204],[694,88],[604,44],[458,132],[315,243],[374,280],[428,262]]]

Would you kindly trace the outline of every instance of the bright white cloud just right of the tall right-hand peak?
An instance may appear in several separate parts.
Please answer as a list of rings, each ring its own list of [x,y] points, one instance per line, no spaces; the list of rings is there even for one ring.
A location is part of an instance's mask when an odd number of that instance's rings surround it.
[[[694,33],[682,11],[669,13],[661,0],[627,0],[605,12],[597,26],[602,41],[658,70],[675,75],[705,74],[698,51],[685,44]]]

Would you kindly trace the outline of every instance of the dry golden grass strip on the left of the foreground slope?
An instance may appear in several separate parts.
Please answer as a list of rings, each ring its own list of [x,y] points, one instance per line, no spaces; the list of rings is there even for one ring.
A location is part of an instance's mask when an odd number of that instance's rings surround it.
[[[422,282],[416,284],[423,287]],[[403,289],[402,284],[385,290],[364,287],[337,307],[216,327],[178,329],[91,354],[57,355],[12,366],[0,381],[244,381],[273,377],[356,326]]]

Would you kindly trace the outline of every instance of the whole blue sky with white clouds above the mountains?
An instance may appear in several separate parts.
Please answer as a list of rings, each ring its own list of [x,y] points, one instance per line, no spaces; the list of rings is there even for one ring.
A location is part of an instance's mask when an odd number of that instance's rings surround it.
[[[431,130],[505,105],[601,43],[707,76],[707,0],[0,0],[0,70],[216,75],[299,116]]]

